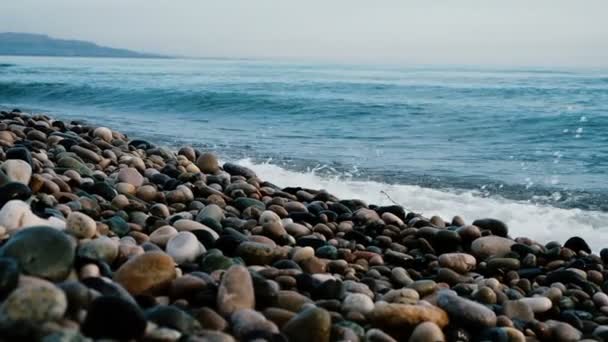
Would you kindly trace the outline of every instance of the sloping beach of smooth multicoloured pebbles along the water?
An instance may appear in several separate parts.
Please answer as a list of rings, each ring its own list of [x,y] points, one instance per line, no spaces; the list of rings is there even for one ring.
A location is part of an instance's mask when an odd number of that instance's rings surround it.
[[[0,161],[0,341],[608,340],[608,250],[578,237],[280,188],[18,110]]]

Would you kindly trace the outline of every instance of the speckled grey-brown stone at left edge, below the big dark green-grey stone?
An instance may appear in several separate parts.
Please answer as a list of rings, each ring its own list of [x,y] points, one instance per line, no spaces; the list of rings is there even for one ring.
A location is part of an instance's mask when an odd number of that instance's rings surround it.
[[[51,283],[20,287],[0,306],[0,320],[54,321],[62,318],[67,308],[65,294]]]

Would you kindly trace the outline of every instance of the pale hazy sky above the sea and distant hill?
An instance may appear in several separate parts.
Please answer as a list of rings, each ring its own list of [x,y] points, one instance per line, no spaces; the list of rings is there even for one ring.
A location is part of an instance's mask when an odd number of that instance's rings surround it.
[[[608,66],[608,0],[0,0],[0,32],[191,57]]]

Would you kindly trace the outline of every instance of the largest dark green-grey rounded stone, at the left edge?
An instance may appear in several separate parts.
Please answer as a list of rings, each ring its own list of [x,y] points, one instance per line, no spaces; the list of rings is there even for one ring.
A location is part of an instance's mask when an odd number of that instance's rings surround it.
[[[61,281],[72,269],[75,247],[62,231],[31,227],[13,235],[0,249],[0,256],[15,259],[25,274]]]

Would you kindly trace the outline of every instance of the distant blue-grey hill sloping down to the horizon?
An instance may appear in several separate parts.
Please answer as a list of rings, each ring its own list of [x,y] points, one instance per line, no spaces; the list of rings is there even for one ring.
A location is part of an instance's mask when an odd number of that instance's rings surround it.
[[[15,32],[0,33],[0,55],[168,58],[167,56],[99,46],[82,40],[55,39],[43,34]]]

